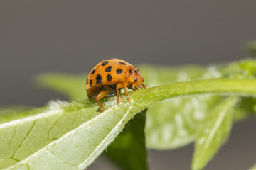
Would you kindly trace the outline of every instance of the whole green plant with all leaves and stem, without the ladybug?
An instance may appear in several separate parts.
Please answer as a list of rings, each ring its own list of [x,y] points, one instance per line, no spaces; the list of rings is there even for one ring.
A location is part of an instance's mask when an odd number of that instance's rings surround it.
[[[203,169],[225,143],[233,123],[253,113],[256,60],[226,65],[139,66],[151,88],[104,98],[99,114],[87,99],[86,74],[42,74],[42,87],[68,101],[0,112],[1,169],[85,169],[107,149],[122,169],[148,169],[146,148],[195,142],[191,169]],[[20,109],[18,109],[20,110]],[[123,159],[125,157],[125,159]]]

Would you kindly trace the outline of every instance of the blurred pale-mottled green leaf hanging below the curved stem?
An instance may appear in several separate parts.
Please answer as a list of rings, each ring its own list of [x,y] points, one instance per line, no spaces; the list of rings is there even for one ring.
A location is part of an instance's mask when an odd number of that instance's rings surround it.
[[[146,146],[176,149],[193,142],[198,123],[222,98],[207,94],[169,98],[156,103],[146,118]]]

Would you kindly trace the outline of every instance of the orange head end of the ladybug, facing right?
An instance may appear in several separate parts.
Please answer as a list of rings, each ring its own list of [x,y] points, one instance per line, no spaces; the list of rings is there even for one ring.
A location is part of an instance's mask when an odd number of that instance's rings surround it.
[[[129,86],[132,89],[138,89],[138,87],[145,89],[146,86],[144,85],[144,79],[142,74],[136,67],[129,67],[127,70],[127,80],[129,82]]]

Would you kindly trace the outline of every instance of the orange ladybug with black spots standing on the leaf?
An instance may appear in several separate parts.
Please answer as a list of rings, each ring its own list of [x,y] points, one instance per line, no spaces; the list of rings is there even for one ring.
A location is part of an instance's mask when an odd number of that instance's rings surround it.
[[[119,89],[124,88],[127,101],[130,102],[127,87],[133,90],[137,90],[138,87],[146,89],[139,69],[119,59],[103,60],[92,69],[86,79],[87,96],[90,99],[96,99],[97,104],[102,109],[100,113],[105,110],[100,99],[114,92],[117,93],[118,103],[120,99]]]

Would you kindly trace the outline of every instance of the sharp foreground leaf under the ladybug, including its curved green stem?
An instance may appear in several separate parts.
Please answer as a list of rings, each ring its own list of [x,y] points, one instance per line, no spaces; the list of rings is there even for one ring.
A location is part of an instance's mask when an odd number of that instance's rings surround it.
[[[85,169],[140,111],[166,98],[193,94],[256,96],[255,79],[206,79],[130,91],[111,97],[98,115],[95,102],[53,102],[38,114],[0,124],[0,168]],[[22,114],[22,113],[21,113]]]

